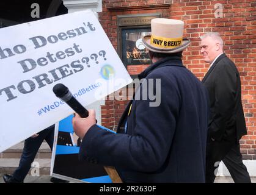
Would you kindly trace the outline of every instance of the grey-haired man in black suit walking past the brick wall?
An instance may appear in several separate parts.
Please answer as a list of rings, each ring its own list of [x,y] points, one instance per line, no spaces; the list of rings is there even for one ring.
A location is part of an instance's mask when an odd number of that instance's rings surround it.
[[[240,75],[235,64],[224,54],[218,33],[209,32],[200,38],[203,59],[210,63],[202,80],[210,99],[206,182],[214,182],[220,161],[227,166],[234,182],[251,182],[239,144],[247,133]]]

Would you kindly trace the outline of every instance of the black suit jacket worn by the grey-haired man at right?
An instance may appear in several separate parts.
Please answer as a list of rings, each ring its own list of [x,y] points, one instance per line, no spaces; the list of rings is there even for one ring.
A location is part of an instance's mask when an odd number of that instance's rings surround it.
[[[221,54],[202,82],[210,99],[210,137],[218,141],[239,141],[247,132],[240,75],[235,64],[227,55]]]

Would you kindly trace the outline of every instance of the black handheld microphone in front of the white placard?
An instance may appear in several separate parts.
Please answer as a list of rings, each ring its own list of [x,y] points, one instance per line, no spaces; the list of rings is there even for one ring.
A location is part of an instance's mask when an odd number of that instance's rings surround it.
[[[62,83],[54,85],[53,93],[55,93],[59,99],[66,102],[81,118],[89,116],[88,110],[74,98],[70,90]]]

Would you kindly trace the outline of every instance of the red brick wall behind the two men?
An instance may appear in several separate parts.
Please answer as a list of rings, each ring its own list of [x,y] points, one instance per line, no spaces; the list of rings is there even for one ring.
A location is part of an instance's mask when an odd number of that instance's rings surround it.
[[[215,18],[214,5],[223,7],[223,18]],[[169,4],[165,7],[164,4]],[[152,6],[149,6],[152,5]],[[256,2],[255,0],[103,0],[100,23],[117,48],[117,15],[161,13],[163,18],[185,21],[184,37],[191,46],[183,52],[183,62],[199,79],[208,70],[200,55],[200,35],[215,31],[222,35],[224,51],[240,71],[242,99],[248,135],[241,140],[244,159],[256,159]],[[102,107],[103,125],[117,127],[127,101],[106,101]]]

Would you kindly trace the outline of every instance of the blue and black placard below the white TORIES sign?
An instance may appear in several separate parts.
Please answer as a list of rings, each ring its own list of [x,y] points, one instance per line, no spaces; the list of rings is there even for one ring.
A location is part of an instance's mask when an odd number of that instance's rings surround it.
[[[79,160],[79,143],[81,141],[74,133],[72,118],[73,115],[70,115],[59,121],[53,174],[83,182],[112,183],[103,166]],[[106,127],[97,126],[115,133]]]

